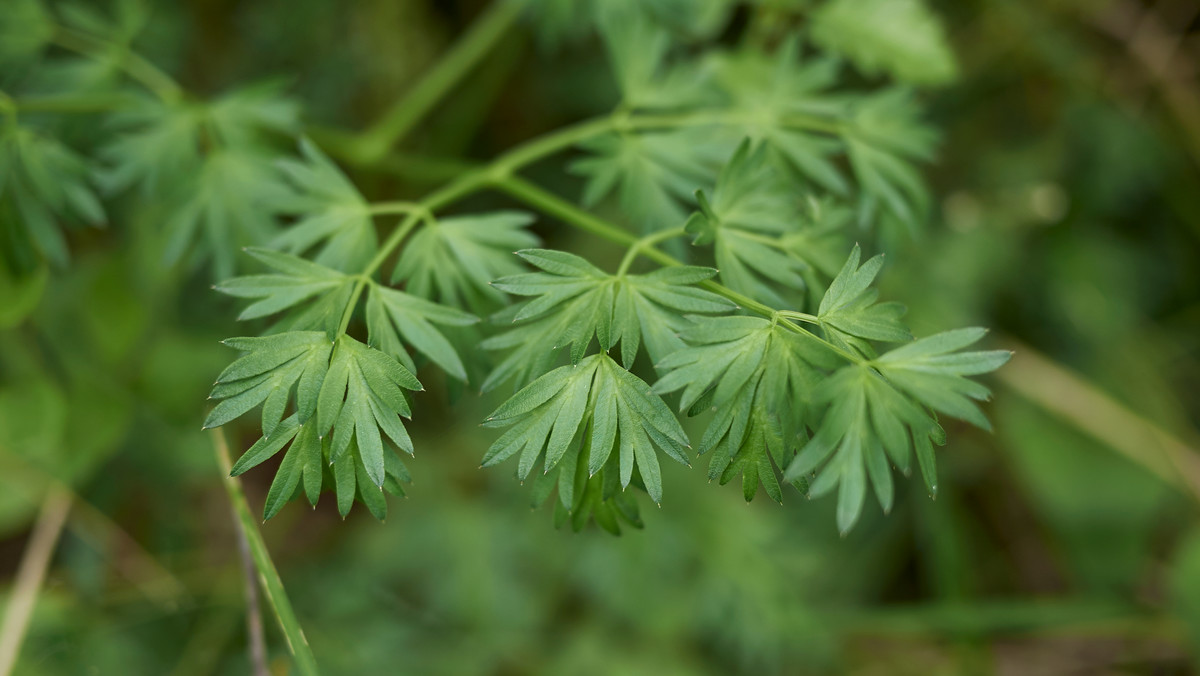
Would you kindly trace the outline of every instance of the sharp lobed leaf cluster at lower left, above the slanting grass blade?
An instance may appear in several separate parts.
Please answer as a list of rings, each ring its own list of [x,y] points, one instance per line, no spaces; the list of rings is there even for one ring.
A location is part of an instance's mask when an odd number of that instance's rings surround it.
[[[268,514],[278,512],[296,493],[301,479],[304,492],[316,501],[323,474],[318,469],[334,463],[343,513],[359,495],[378,515],[380,503],[372,490],[397,492],[398,481],[407,477],[384,439],[413,451],[400,417],[409,414],[402,390],[420,389],[416,378],[391,357],[346,335],[335,343],[323,331],[288,331],[226,343],[247,354],[217,378],[212,397],[222,401],[205,427],[223,425],[263,405],[263,438],[238,460],[233,473],[246,472],[293,444],[268,496]],[[281,420],[293,388],[294,413]],[[323,457],[319,462],[318,454]],[[368,481],[352,480],[360,469]],[[355,485],[360,485],[359,493]]]

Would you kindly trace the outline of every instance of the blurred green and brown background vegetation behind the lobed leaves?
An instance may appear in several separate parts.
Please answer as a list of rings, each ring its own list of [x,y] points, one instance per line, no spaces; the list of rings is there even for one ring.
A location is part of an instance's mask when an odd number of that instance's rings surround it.
[[[353,174],[364,193],[420,195],[462,161],[604,112],[614,85],[584,5],[540,0],[398,155]],[[845,40],[845,18],[808,0],[649,5],[684,42],[792,26],[830,49]],[[287,78],[306,124],[354,130],[485,6],[156,2],[134,47],[202,94]],[[840,49],[852,77],[918,85],[944,130],[932,223],[888,240],[883,295],[908,300],[917,335],[988,325],[1016,351],[990,383],[997,431],[949,430],[937,499],[907,481],[890,515],[868,509],[839,538],[830,499],[745,504],[665,465],[670,499],[643,512],[644,531],[554,531],[505,472],[476,469],[493,435],[463,421],[492,402],[451,412],[434,387],[413,426],[415,483],[385,524],[365,510],[343,522],[325,501],[263,527],[324,671],[1194,671],[1200,4],[932,6],[944,54],[904,52],[907,34],[893,36],[902,64]],[[50,79],[116,77],[43,58]],[[53,124],[89,148],[92,127]],[[578,191],[560,172],[539,178]],[[152,210],[120,213],[107,232],[72,231],[68,268],[0,279],[4,580],[48,492],[71,501],[17,672],[247,674],[234,525],[199,432],[233,304],[162,265]],[[538,229],[562,247],[580,237]],[[256,512],[271,474],[245,477]],[[265,624],[287,672],[269,612]]]

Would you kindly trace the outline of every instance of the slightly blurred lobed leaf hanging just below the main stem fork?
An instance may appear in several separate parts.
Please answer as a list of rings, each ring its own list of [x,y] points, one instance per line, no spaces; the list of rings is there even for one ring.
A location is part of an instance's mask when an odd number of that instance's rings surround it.
[[[533,216],[494,211],[442,219],[422,227],[404,245],[392,282],[426,300],[482,316],[504,303],[492,280],[523,271],[512,252],[538,244],[526,228]]]

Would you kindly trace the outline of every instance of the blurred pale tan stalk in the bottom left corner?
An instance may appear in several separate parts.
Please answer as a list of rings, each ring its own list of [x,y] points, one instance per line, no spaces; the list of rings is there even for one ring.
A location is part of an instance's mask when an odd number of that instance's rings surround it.
[[[42,501],[42,510],[34,525],[34,534],[29,538],[25,554],[17,568],[17,580],[13,586],[8,608],[5,609],[4,623],[0,624],[0,676],[8,676],[17,665],[17,654],[29,628],[29,617],[37,605],[37,593],[46,580],[46,569],[50,564],[59,534],[71,512],[71,493],[52,484]]]

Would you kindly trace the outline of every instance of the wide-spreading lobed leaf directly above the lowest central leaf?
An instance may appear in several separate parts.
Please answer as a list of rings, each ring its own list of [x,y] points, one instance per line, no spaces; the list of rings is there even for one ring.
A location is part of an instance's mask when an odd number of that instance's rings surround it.
[[[622,360],[632,364],[643,341],[652,358],[661,358],[682,346],[676,331],[684,313],[725,312],[733,304],[692,285],[715,270],[678,267],[648,275],[608,275],[574,253],[552,250],[518,251],[540,273],[496,281],[496,288],[532,297],[516,307],[512,330],[481,345],[486,349],[512,352],[497,365],[482,389],[511,379],[517,385],[550,369],[554,351],[570,346],[572,363],[587,353],[595,336],[600,349],[622,342]]]

